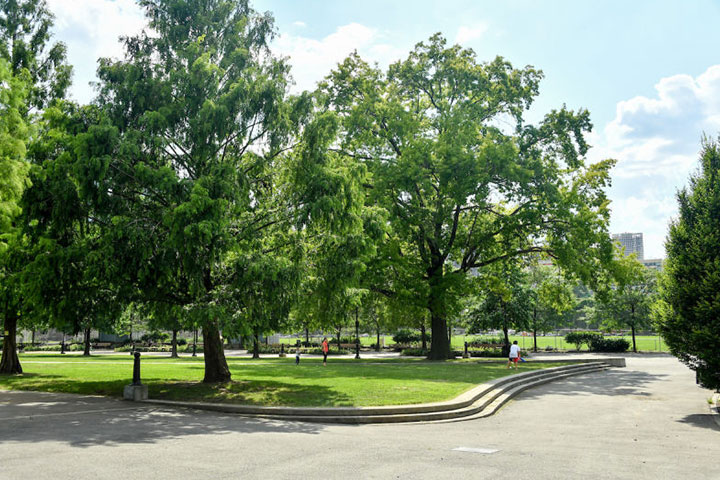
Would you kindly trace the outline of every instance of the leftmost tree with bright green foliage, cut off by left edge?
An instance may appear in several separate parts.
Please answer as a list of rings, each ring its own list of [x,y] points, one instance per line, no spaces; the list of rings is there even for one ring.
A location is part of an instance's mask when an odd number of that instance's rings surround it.
[[[32,259],[28,242],[13,219],[20,213],[19,200],[29,185],[25,153],[36,113],[62,98],[70,85],[72,69],[65,46],[52,43],[52,15],[44,0],[0,1],[0,283],[4,338],[0,372],[20,373],[15,352],[17,320],[38,309],[24,305],[23,270]],[[22,203],[22,202],[21,202]],[[7,249],[11,246],[12,251]]]

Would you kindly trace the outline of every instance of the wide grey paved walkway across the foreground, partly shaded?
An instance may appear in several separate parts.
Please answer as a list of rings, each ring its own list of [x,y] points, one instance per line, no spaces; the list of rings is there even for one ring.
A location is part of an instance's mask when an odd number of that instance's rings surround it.
[[[627,363],[447,424],[324,426],[0,392],[0,478],[720,479],[711,392],[674,358]]]

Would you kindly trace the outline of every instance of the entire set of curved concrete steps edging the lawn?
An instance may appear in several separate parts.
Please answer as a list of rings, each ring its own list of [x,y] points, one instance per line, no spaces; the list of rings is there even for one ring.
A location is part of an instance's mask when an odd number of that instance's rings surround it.
[[[445,402],[417,405],[392,405],[382,407],[265,407],[256,405],[229,405],[204,402],[177,402],[171,400],[144,400],[142,403],[199,410],[211,410],[262,418],[321,423],[404,423],[449,420],[477,416],[493,402],[500,401],[491,409],[494,413],[510,398],[535,385],[547,383],[571,375],[604,370],[609,366],[624,367],[625,359],[581,361],[543,370],[534,370],[491,380],[478,385]],[[612,364],[612,365],[611,365]],[[522,388],[521,388],[522,387]],[[507,393],[506,393],[507,392]],[[487,415],[486,415],[487,416]]]

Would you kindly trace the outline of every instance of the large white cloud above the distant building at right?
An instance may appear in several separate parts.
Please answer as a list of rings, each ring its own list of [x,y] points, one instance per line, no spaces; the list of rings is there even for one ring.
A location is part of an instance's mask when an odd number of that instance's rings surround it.
[[[618,102],[615,119],[592,137],[591,160],[615,158],[611,229],[643,232],[645,256],[663,257],[675,193],[697,165],[703,134],[720,129],[720,65],[696,78],[674,75],[656,95]]]

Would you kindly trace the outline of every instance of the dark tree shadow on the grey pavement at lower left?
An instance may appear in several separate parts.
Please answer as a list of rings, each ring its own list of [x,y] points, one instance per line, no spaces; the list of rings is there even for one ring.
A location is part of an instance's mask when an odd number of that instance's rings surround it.
[[[318,434],[322,425],[245,418],[190,409],[164,409],[98,397],[2,392],[0,445],[58,442],[85,448],[152,444],[193,435]]]

